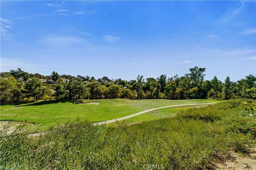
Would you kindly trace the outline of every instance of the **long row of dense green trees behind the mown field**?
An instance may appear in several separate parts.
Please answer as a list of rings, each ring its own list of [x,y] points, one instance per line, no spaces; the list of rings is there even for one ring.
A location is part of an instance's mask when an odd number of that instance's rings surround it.
[[[50,76],[29,74],[21,68],[1,72],[1,103],[19,103],[31,100],[76,100],[102,98],[128,99],[222,99],[252,98],[246,89],[256,88],[256,77],[248,75],[237,82],[227,77],[224,82],[217,79],[204,80],[206,68],[189,69],[189,73],[179,77],[177,74],[167,78],[162,74],[158,78],[146,78],[138,75],[136,80],[110,80],[104,76],[59,75]],[[64,82],[64,78],[68,82]],[[52,80],[55,84],[46,84],[40,79]]]

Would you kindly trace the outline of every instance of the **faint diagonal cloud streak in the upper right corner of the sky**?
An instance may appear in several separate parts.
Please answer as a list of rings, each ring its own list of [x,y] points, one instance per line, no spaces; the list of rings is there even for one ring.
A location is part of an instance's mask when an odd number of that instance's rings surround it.
[[[234,16],[244,9],[244,2],[240,1],[240,5],[236,7],[228,7],[227,11],[216,21],[218,24],[228,23]]]

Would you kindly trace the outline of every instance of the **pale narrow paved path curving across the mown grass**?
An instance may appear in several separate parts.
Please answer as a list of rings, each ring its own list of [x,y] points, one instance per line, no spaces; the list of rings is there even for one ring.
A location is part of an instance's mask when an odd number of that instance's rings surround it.
[[[141,115],[141,114],[147,113],[147,112],[149,112],[149,111],[153,111],[153,110],[157,110],[157,109],[162,109],[162,108],[166,108],[166,107],[190,106],[190,105],[208,105],[208,104],[216,104],[216,103],[180,104],[180,105],[172,105],[172,106],[157,107],[157,108],[153,108],[153,109],[148,109],[148,110],[140,111],[140,112],[138,112],[138,113],[134,113],[134,114],[132,114],[132,115],[128,115],[128,116],[125,116],[125,117],[120,117],[120,118],[117,118],[117,119],[112,119],[112,120],[107,120],[107,121],[96,122],[96,123],[93,123],[93,125],[102,125],[102,124],[107,124],[107,123],[113,123],[113,122],[116,122],[116,121],[120,121],[120,120],[128,119],[128,118],[131,118],[131,117],[134,117],[134,116],[137,116],[137,115]]]

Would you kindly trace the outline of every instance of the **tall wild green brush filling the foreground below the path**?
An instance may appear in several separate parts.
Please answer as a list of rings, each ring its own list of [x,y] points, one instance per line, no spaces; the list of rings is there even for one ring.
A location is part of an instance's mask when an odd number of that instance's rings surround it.
[[[255,145],[252,117],[240,100],[182,111],[176,117],[128,126],[76,120],[28,137],[20,127],[0,132],[1,169],[212,169],[230,149]],[[156,169],[156,168],[154,168]]]

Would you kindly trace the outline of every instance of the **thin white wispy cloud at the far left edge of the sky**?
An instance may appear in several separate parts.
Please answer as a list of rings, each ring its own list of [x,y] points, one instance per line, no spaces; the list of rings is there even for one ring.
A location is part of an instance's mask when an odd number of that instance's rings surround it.
[[[10,26],[10,24],[12,24],[12,21],[0,18],[1,37],[8,40],[8,41],[14,41],[14,37],[17,36],[17,35],[14,35],[14,34],[11,33],[11,30],[13,28],[12,28],[12,26]]]

